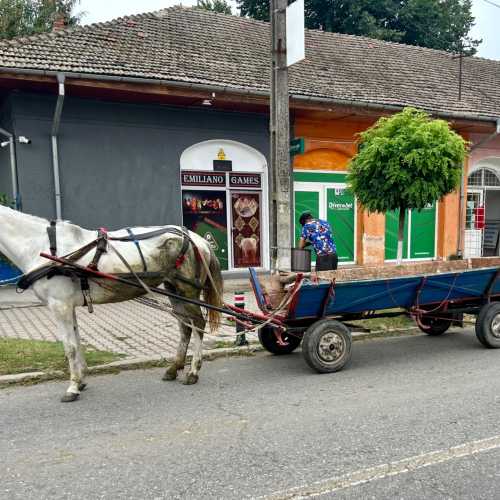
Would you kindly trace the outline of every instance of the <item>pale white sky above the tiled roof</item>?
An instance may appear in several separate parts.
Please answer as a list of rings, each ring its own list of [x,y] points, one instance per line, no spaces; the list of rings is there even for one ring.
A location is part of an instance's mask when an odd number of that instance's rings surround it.
[[[84,24],[109,21],[115,17],[150,12],[182,3],[185,6],[196,4],[196,0],[81,0],[80,10],[87,14]],[[236,2],[230,1],[233,12]],[[476,26],[472,29],[473,38],[482,38],[478,56],[500,60],[500,0],[473,0],[472,13]]]

